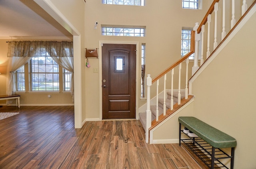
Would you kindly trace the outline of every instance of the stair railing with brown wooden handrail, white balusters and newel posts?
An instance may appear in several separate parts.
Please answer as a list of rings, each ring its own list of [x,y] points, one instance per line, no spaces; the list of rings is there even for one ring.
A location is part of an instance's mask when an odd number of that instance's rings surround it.
[[[222,44],[222,42],[230,35],[230,33],[234,30],[234,28],[238,25],[238,23],[242,20],[242,18],[250,11],[255,4],[256,0],[252,2],[249,8],[247,8],[248,4],[246,0],[242,0],[242,6],[240,8],[240,11],[235,11],[237,6],[240,6],[240,1],[238,0],[222,0],[222,3],[219,4],[220,0],[214,0],[207,11],[206,15],[204,16],[202,22],[200,24],[196,23],[196,26],[194,27],[194,31],[191,31],[191,51],[176,61],[174,64],[172,64],[170,67],[168,67],[166,70],[164,70],[162,73],[160,73],[158,76],[156,76],[154,79],[151,79],[150,75],[147,77],[147,110],[146,110],[146,143],[149,141],[149,131],[148,129],[151,127],[151,110],[150,110],[150,86],[152,83],[156,82],[156,121],[158,121],[158,88],[159,88],[159,79],[164,76],[164,113],[163,115],[166,115],[166,74],[171,71],[171,106],[170,109],[173,109],[173,82],[174,82],[174,68],[178,67],[179,70],[179,79],[178,79],[178,104],[180,104],[180,81],[181,81],[181,65],[182,62],[186,60],[186,86],[185,86],[185,99],[188,98],[188,94],[191,94],[191,90],[188,91],[188,63],[189,59],[188,57],[194,53],[194,66],[192,67],[192,75],[196,73],[196,71],[207,61],[207,59],[214,53],[214,51]],[[227,7],[227,4],[231,4],[231,9]],[[218,8],[219,6],[222,8],[221,14],[218,15]],[[230,11],[230,10],[231,11]],[[214,31],[211,30],[211,18],[212,13],[214,12]],[[238,22],[236,22],[235,14],[241,13],[241,17],[239,18]],[[228,14],[231,13],[231,18],[227,18]],[[227,15],[226,15],[227,14]],[[220,17],[219,17],[220,16]],[[230,30],[228,31],[228,34],[226,34],[226,20],[230,19]],[[222,20],[222,29],[218,29],[218,24],[221,23],[218,20]],[[206,25],[207,24],[207,25]],[[207,37],[204,37],[205,29],[204,27],[208,26],[208,30],[206,30]],[[210,37],[214,37],[213,40],[210,39]],[[218,37],[221,37],[218,39]],[[204,45],[204,40],[207,40],[206,45]],[[204,54],[204,46],[206,46],[206,54]],[[212,47],[212,52],[210,51],[210,47]],[[199,57],[200,53],[200,57]],[[204,58],[206,60],[204,61]],[[198,66],[198,61],[200,60],[200,66]]]

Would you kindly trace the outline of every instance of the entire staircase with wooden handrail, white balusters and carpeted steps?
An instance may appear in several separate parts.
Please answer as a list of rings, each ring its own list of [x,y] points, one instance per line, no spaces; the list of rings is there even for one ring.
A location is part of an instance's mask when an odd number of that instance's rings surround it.
[[[145,141],[146,143],[153,142],[153,132],[156,126],[160,126],[164,123],[165,120],[168,120],[171,114],[175,111],[179,110],[186,103],[189,103],[194,96],[192,96],[192,82],[194,79],[200,75],[207,65],[211,63],[211,61],[218,55],[223,47],[234,37],[236,32],[242,27],[241,25],[246,23],[246,19],[252,16],[253,12],[256,11],[256,0],[247,4],[246,0],[243,0],[242,6],[240,1],[228,0],[227,3],[232,4],[232,9],[225,7],[225,0],[213,0],[212,5],[210,6],[208,12],[203,17],[201,23],[196,23],[193,31],[191,31],[191,44],[190,44],[190,52],[187,53],[184,57],[173,63],[170,67],[165,69],[162,73],[156,76],[154,79],[147,75],[146,85],[147,85],[147,104],[146,104],[146,112],[139,113],[140,122],[145,130]],[[220,7],[218,7],[220,6]],[[235,11],[234,6],[240,6],[240,11]],[[247,6],[249,6],[247,8]],[[242,8],[241,8],[242,7]],[[221,8],[222,11],[218,11],[218,8]],[[220,12],[220,16],[217,13]],[[232,16],[226,15],[232,13]],[[240,14],[240,18],[236,18],[235,13]],[[210,27],[211,17],[214,16],[214,30]],[[224,22],[225,20],[229,20],[230,22],[230,30],[227,30]],[[222,24],[222,26],[217,26],[218,24]],[[204,29],[204,26],[208,26],[208,30]],[[220,29],[222,27],[222,29]],[[204,38],[204,35],[207,37]],[[221,36],[221,38],[219,38]],[[214,37],[211,39],[210,37]],[[206,41],[204,41],[206,39]],[[201,42],[204,45],[199,45]],[[210,51],[210,46],[213,46],[212,51]],[[194,53],[194,63],[192,67],[192,77],[188,77],[188,64],[189,64],[189,56]],[[200,63],[200,65],[198,65]],[[186,67],[186,77],[182,77],[182,65]],[[174,79],[174,69],[175,76],[178,77]],[[178,70],[178,71],[177,71]],[[166,84],[167,79],[170,78],[171,84]],[[184,73],[184,71],[183,71]],[[162,78],[164,77],[164,78]],[[185,78],[185,85],[181,84],[181,78]],[[161,81],[160,81],[161,79]],[[164,79],[164,81],[162,81]],[[155,88],[150,89],[152,83],[156,83],[156,105],[151,104],[150,90],[155,90]],[[158,98],[160,94],[158,94],[159,85],[163,88],[164,97]],[[171,89],[167,91],[166,86],[171,86]],[[173,86],[178,86],[178,92],[173,89]],[[184,89],[181,89],[183,88]],[[189,90],[188,90],[189,88]],[[167,96],[166,96],[167,93]],[[180,109],[181,110],[181,109]],[[177,111],[178,113],[179,111]],[[165,130],[165,129],[163,129]]]

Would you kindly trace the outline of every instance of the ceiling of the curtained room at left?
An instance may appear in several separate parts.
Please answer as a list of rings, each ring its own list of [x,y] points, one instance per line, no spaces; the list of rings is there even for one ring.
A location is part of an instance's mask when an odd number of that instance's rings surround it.
[[[0,0],[0,38],[72,37],[33,0]]]

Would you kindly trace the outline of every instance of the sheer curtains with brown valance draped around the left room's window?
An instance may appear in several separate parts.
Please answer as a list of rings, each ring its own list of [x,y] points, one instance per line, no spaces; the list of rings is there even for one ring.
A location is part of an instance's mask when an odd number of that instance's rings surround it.
[[[49,55],[61,67],[70,71],[71,76],[71,95],[74,99],[74,61],[73,61],[73,42],[69,41],[8,41],[7,57],[10,58],[6,79],[6,94],[14,94],[16,91],[14,73],[25,65],[37,51],[46,49]],[[39,55],[41,52],[38,52]]]

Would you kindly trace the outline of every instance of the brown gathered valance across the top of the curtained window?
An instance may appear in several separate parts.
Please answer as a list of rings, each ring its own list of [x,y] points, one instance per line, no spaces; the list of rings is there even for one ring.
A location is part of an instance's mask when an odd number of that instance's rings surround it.
[[[73,57],[72,41],[8,41],[7,57],[33,57],[42,48],[51,57]]]

